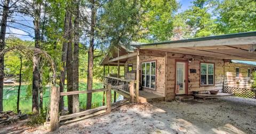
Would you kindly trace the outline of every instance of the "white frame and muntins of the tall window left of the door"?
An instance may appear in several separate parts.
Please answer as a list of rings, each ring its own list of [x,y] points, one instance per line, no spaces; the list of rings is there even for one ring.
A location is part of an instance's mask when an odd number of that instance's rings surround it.
[[[142,74],[143,73],[142,64],[144,64],[144,63],[145,63],[145,74]],[[150,64],[149,74],[146,74],[147,73],[147,63]],[[151,63],[155,63],[155,74],[151,74]],[[156,61],[141,62],[141,83],[142,83],[142,75],[145,76],[144,86],[142,86],[142,87],[155,90],[156,89]],[[147,76],[149,76],[149,87],[146,87]],[[155,76],[155,88],[151,88],[151,76]]]

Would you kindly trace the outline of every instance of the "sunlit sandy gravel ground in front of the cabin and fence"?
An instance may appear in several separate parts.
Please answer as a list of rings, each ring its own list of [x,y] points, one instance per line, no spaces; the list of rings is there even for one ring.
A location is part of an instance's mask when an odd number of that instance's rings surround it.
[[[256,99],[226,97],[196,104],[129,104],[107,115],[62,125],[54,133],[256,133],[255,126]],[[0,128],[0,133],[9,128]],[[47,133],[42,126],[19,132]]]

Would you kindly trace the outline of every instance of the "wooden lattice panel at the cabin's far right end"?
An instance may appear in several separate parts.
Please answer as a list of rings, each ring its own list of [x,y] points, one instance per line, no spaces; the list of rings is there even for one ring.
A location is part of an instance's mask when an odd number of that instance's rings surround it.
[[[246,89],[237,87],[224,87],[223,93],[232,93],[235,96],[244,98],[256,98],[256,89]]]

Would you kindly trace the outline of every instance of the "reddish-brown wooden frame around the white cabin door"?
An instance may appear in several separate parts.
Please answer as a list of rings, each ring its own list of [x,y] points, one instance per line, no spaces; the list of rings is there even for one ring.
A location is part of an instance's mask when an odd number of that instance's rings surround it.
[[[177,95],[176,94],[176,73],[177,73],[177,62],[184,62],[185,63],[185,78],[186,78],[186,82],[185,82],[185,86],[186,86],[186,88],[185,88],[185,95],[188,95],[188,61],[187,60],[177,60],[177,59],[175,59],[175,70],[174,70],[174,78],[175,78],[175,81],[174,81],[174,93],[175,93],[175,95]],[[179,94],[178,94],[179,95]]]

